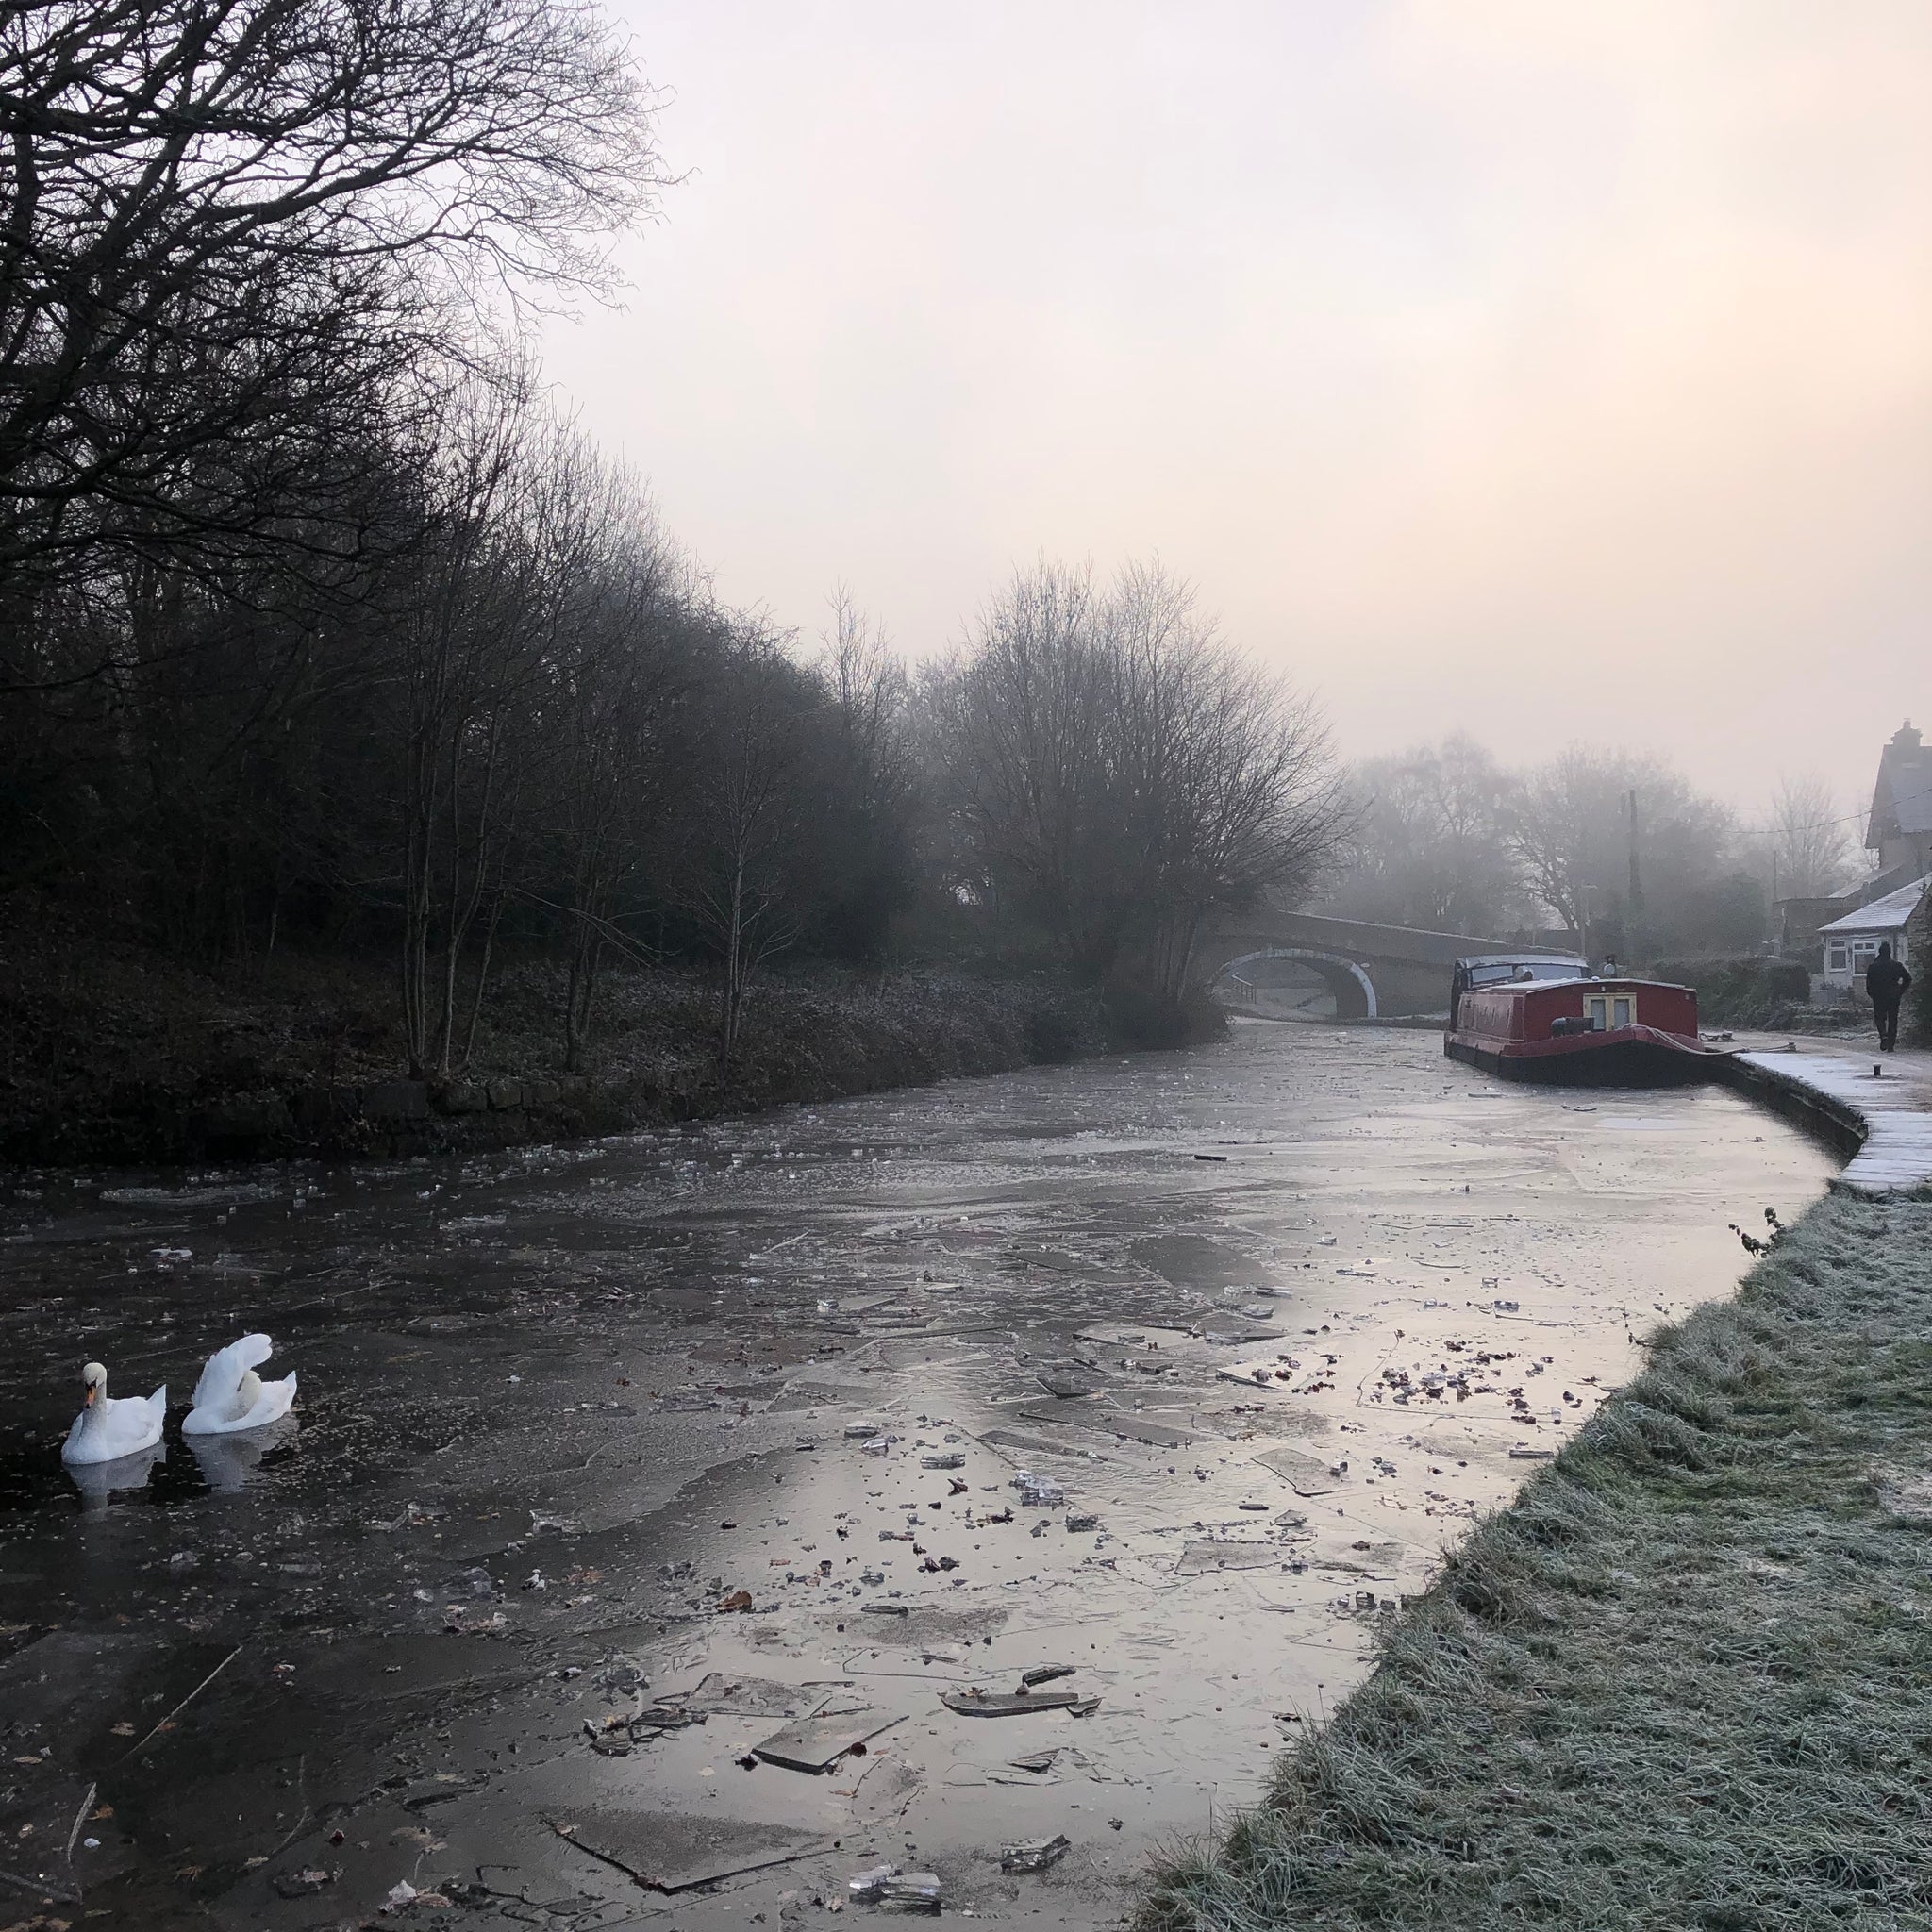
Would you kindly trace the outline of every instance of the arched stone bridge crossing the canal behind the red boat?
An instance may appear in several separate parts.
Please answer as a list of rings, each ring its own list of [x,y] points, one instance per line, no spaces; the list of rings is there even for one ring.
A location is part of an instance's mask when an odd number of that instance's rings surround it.
[[[1335,1016],[1447,1012],[1449,974],[1474,952],[1557,954],[1559,947],[1524,947],[1476,933],[1426,933],[1410,925],[1329,920],[1316,912],[1252,912],[1202,933],[1190,978],[1227,987],[1240,968],[1260,960],[1294,960],[1335,995]]]

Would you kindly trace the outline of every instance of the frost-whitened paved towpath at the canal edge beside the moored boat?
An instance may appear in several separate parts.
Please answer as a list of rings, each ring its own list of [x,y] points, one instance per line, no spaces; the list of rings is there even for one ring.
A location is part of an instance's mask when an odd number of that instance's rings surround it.
[[[1835,1188],[1903,1194],[1932,1186],[1932,1053],[1801,1037],[1750,1047],[1737,1065],[1747,1092],[1774,1105],[1779,1097],[1808,1105],[1859,1140]]]

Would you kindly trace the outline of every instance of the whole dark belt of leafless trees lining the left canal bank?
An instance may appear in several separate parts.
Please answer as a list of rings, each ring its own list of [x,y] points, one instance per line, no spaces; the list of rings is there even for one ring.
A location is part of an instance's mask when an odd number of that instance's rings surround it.
[[[1047,562],[916,680],[838,595],[721,603],[541,400],[665,184],[560,0],[106,0],[0,37],[0,889],[209,964],[386,949],[458,1068],[506,951],[1051,962],[1175,1003],[1198,923],[1304,893],[1306,699],[1186,585]]]

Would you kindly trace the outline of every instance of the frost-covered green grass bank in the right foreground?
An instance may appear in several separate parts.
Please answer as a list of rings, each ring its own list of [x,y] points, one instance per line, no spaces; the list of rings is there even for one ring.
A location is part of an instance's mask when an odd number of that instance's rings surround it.
[[[1932,1926],[1932,1200],[1663,1331],[1140,1922]]]

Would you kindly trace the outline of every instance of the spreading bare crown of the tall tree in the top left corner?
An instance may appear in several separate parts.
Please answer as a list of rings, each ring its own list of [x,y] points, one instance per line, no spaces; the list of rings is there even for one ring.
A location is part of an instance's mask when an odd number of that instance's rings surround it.
[[[102,545],[352,541],[369,427],[483,292],[607,286],[649,110],[568,0],[8,8],[0,614]],[[340,527],[294,529],[319,469]]]

